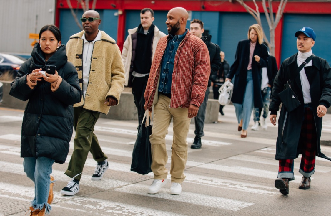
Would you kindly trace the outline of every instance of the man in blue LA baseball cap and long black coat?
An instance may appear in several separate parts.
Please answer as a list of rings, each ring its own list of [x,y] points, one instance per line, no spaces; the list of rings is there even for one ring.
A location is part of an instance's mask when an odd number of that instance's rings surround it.
[[[285,59],[280,66],[269,105],[270,121],[276,125],[277,111],[282,102],[278,94],[285,85],[292,88],[300,101],[292,111],[283,101],[278,118],[275,159],[279,160],[279,167],[275,187],[284,195],[289,193],[289,181],[294,180],[293,160],[299,154],[302,154],[299,172],[303,175],[299,189],[310,188],[316,155],[331,160],[321,153],[320,148],[322,117],[331,105],[331,68],[325,59],[312,54],[311,48],[316,39],[312,28],[303,27],[295,36],[299,52]],[[290,107],[291,104],[287,105]]]

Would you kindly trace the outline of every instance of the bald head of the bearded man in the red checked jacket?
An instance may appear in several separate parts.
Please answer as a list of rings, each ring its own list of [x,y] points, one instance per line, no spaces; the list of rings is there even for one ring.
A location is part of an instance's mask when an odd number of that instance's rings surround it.
[[[186,31],[188,13],[184,8],[172,8],[166,18],[166,26],[169,34],[183,34]]]

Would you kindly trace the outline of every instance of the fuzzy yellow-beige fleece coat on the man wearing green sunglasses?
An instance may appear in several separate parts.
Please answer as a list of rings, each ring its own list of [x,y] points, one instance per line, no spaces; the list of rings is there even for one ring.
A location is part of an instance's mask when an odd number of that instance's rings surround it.
[[[68,61],[76,67],[81,89],[83,89],[83,39],[81,39],[83,33],[84,31],[81,31],[72,35],[66,45]],[[101,31],[101,40],[94,43],[85,99],[82,97],[74,107],[107,114],[110,107],[105,104],[105,99],[113,96],[118,104],[124,81],[124,65],[120,50],[115,40]]]

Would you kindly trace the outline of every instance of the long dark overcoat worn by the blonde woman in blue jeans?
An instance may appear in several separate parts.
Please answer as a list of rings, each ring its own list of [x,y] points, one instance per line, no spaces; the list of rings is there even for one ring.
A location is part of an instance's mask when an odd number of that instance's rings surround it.
[[[250,40],[241,40],[238,43],[234,63],[231,65],[227,78],[231,79],[236,75],[233,86],[232,103],[242,104],[246,89],[247,67],[249,63]],[[260,63],[255,61],[254,56],[260,56]],[[256,43],[252,58],[252,76],[254,89],[254,107],[262,107],[261,95],[261,68],[268,65],[268,49],[264,44]]]

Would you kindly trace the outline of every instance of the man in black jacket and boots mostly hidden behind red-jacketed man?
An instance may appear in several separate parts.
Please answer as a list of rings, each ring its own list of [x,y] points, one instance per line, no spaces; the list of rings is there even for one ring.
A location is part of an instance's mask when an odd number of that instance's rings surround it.
[[[193,19],[191,21],[190,25],[191,33],[199,38],[201,38],[207,45],[209,56],[210,56],[210,77],[208,81],[208,87],[205,94],[204,102],[201,104],[198,114],[196,117],[194,117],[195,122],[195,138],[193,141],[193,145],[191,145],[191,148],[201,148],[201,137],[204,136],[204,125],[205,125],[205,116],[206,116],[206,106],[209,96],[209,87],[212,83],[212,77],[217,76],[217,71],[221,67],[221,57],[219,53],[221,52],[221,48],[217,45],[211,42],[212,35],[208,34],[207,36],[203,36],[202,33],[204,33],[204,23],[201,20]]]

